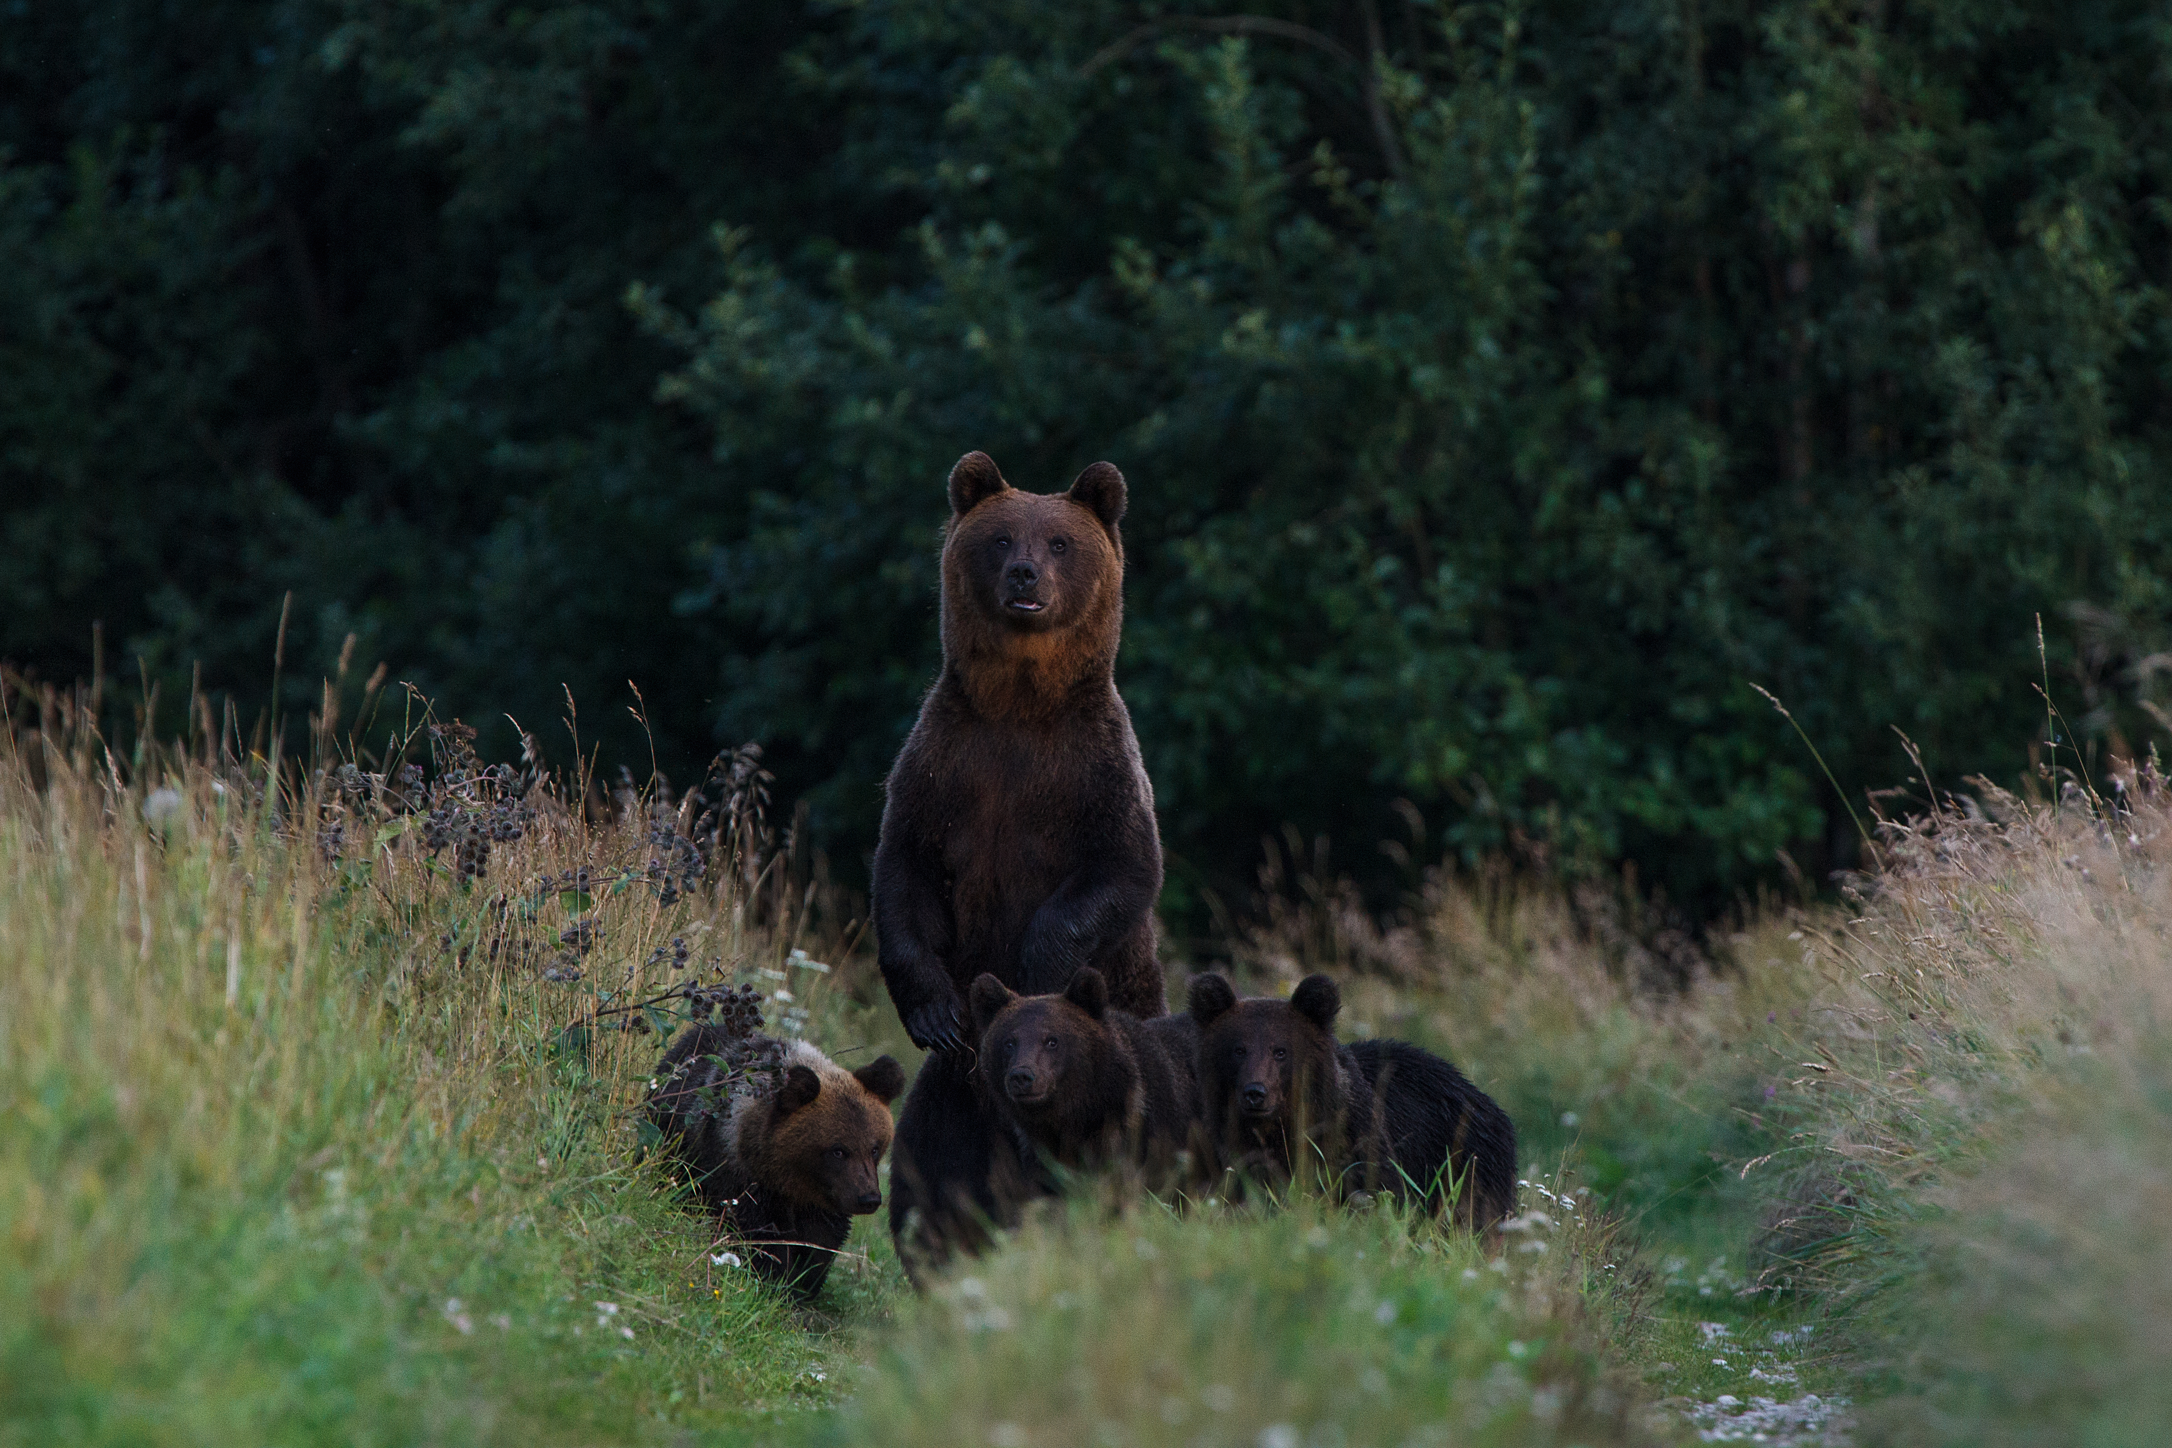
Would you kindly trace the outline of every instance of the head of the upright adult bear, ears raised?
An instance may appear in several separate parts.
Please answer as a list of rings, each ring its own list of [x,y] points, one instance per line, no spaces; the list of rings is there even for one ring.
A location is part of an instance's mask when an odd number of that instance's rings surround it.
[[[943,571],[971,608],[1008,630],[1060,632],[1123,573],[1110,536],[1123,517],[1123,475],[1106,462],[1069,493],[1040,495],[1003,482],[986,454],[967,454],[951,473],[951,510]]]

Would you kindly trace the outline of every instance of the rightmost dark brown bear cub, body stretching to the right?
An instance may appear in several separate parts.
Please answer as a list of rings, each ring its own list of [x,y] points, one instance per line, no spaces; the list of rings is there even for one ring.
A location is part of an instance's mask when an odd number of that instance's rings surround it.
[[[1379,1190],[1492,1227],[1516,1207],[1516,1127],[1492,1096],[1431,1051],[1399,1040],[1336,1042],[1342,992],[1308,975],[1288,1001],[1238,1001],[1195,975],[1199,1096],[1221,1164],[1288,1181],[1299,1166],[1342,1192]]]

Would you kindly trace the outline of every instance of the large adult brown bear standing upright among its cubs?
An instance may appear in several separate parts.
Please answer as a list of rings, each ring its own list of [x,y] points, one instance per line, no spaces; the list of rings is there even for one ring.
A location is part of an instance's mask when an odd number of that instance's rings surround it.
[[[875,849],[882,979],[934,1051],[897,1125],[891,1231],[908,1268],[1003,1220],[1025,1168],[973,1085],[967,990],[1062,990],[1079,966],[1110,1005],[1160,1016],[1153,901],[1162,840],[1116,697],[1123,473],[1021,493],[969,452],[949,475],[943,673],[897,753]]]

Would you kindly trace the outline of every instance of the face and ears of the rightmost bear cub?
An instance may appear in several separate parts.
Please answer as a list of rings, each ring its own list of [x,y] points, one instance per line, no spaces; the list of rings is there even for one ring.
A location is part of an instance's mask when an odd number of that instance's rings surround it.
[[[1238,1001],[1223,977],[1197,975],[1188,1003],[1210,1109],[1253,1129],[1295,1125],[1316,1109],[1336,1068],[1334,1020],[1342,1009],[1329,977],[1305,977],[1288,1001]]]

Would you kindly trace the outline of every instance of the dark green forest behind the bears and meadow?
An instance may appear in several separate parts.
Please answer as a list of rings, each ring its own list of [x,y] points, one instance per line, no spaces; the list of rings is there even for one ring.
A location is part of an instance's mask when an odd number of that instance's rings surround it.
[[[285,714],[754,738],[851,875],[949,462],[1110,458],[1179,907],[1709,912],[1853,860],[1753,684],[1857,805],[2161,734],[2168,284],[2150,0],[0,0],[0,658],[250,719],[291,595]]]

